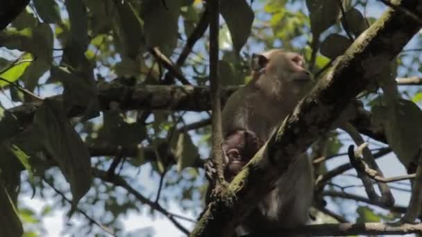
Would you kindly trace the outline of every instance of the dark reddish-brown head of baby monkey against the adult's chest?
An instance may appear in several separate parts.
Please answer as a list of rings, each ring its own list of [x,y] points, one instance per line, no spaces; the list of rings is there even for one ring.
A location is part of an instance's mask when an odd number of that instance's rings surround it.
[[[236,130],[225,137],[223,152],[225,155],[224,175],[231,181],[261,148],[262,143],[255,133]]]

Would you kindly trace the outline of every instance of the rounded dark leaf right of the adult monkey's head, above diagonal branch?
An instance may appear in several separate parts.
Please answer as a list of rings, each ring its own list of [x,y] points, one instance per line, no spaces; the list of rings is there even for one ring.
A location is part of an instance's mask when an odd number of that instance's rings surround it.
[[[334,60],[339,55],[343,55],[351,44],[352,42],[347,37],[331,34],[321,43],[321,54]]]

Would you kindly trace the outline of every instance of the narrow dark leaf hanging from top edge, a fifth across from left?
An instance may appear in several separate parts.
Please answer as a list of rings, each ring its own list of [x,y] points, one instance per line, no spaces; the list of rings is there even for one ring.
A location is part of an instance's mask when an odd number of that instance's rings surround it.
[[[66,0],[65,5],[69,14],[70,37],[85,49],[90,42],[88,37],[88,16],[82,0]]]

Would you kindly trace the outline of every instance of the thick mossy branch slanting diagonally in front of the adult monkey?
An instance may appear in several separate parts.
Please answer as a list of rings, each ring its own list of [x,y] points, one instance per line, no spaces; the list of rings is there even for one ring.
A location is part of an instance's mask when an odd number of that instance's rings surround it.
[[[396,1],[422,15],[422,1]],[[393,59],[421,25],[412,17],[388,10],[341,56],[287,116],[276,134],[211,202],[191,236],[230,236],[248,211],[271,190],[295,157],[334,123],[373,78],[380,59]],[[269,157],[271,159],[269,159]]]

